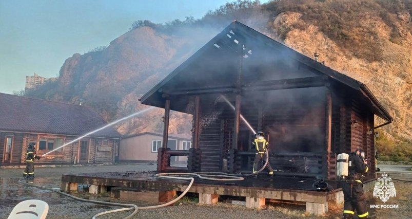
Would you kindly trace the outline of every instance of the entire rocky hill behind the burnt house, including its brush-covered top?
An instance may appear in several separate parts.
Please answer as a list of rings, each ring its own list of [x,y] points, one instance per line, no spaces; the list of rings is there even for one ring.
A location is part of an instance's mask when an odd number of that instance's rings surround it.
[[[139,21],[109,46],[68,58],[57,82],[29,95],[71,103],[82,98],[107,121],[127,116],[146,107],[139,97],[236,19],[306,56],[319,52],[327,66],[366,84],[395,119],[384,132],[410,139],[411,13],[411,0],[238,1],[197,21]],[[117,129],[161,132],[162,114],[158,109]],[[190,129],[191,116],[172,113],[172,133]]]

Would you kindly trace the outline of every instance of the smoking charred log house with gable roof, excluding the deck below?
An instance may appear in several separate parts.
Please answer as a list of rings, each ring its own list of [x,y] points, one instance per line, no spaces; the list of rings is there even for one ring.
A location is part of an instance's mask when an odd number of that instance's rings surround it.
[[[170,110],[193,115],[192,149],[170,150],[164,140],[159,171],[179,169],[170,156],[188,156],[189,172],[220,172],[227,160],[228,172],[250,173],[262,130],[275,175],[335,179],[339,153],[362,149],[375,166],[375,129],[393,121],[361,82],[237,21],[140,100],[165,108],[164,139]]]

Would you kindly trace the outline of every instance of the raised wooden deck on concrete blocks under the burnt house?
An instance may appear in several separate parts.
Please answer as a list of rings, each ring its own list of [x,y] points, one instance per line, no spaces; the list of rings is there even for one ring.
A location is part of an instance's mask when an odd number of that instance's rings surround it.
[[[90,185],[90,193],[100,193],[111,188],[117,192],[115,197],[122,198],[119,191],[126,191],[142,197],[159,195],[159,202],[185,191],[189,181],[180,179],[165,179],[156,177],[156,171],[128,171],[87,173],[62,175],[62,191],[76,190],[78,184]],[[315,179],[298,177],[280,177],[259,175],[258,178],[245,177],[240,181],[212,181],[199,179],[195,181],[188,192],[199,193],[201,204],[218,202],[219,195],[242,196],[246,198],[246,207],[262,208],[266,199],[306,203],[306,210],[310,213],[323,214],[327,212],[327,202],[342,202],[343,194],[337,188],[336,181],[328,181],[333,191],[316,191],[313,188]],[[144,195],[146,194],[146,195]],[[149,194],[149,195],[147,195]],[[157,196],[156,196],[157,197]]]

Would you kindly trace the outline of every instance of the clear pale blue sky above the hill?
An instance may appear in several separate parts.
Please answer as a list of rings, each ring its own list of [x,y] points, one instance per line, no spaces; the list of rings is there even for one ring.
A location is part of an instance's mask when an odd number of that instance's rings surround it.
[[[0,0],[0,93],[24,89],[34,73],[58,77],[67,58],[108,46],[134,21],[201,19],[227,2],[233,1]]]

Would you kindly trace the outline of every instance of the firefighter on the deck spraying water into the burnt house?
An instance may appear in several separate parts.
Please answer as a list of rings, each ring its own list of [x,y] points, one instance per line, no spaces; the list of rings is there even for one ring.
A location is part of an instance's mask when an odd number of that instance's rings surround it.
[[[256,148],[256,155],[254,156],[253,162],[253,173],[256,173],[260,169],[260,164],[263,162],[262,164],[264,165],[266,159],[268,159],[268,157],[266,157],[266,150],[269,142],[266,141],[263,132],[259,131],[255,135],[252,144]],[[267,161],[266,170],[270,176],[273,176],[273,169],[270,167],[269,160]]]

